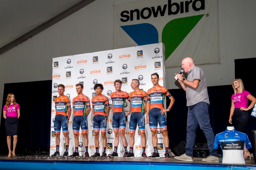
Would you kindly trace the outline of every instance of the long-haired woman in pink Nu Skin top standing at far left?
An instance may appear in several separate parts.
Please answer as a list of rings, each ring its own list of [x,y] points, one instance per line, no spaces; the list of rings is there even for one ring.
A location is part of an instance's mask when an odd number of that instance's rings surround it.
[[[5,119],[5,131],[7,135],[7,145],[9,149],[8,157],[15,157],[15,148],[18,139],[18,127],[19,127],[19,105],[16,103],[14,94],[9,93],[6,99],[6,103],[3,108]],[[11,151],[11,136],[13,136],[13,150]]]

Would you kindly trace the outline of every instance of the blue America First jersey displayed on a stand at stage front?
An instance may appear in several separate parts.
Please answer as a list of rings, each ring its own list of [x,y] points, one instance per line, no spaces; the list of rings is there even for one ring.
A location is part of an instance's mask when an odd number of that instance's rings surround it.
[[[252,147],[248,136],[235,129],[217,134],[213,148],[218,149],[219,144],[223,153],[222,163],[245,164],[244,144],[247,149]]]

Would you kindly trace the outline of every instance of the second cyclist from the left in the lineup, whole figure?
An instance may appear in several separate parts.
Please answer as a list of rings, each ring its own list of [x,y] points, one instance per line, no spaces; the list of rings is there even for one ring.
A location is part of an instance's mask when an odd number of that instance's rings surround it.
[[[76,84],[76,92],[78,96],[73,98],[73,134],[75,139],[75,151],[72,157],[79,156],[78,144],[79,144],[79,130],[82,129],[82,135],[84,138],[84,157],[90,157],[88,153],[88,122],[87,117],[91,111],[90,98],[83,94],[83,84]]]

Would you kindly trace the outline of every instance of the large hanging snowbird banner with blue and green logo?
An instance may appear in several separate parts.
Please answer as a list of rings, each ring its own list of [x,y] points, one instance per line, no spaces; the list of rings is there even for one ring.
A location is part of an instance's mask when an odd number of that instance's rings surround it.
[[[142,0],[114,5],[113,48],[165,44],[166,68],[185,57],[219,63],[217,0]]]

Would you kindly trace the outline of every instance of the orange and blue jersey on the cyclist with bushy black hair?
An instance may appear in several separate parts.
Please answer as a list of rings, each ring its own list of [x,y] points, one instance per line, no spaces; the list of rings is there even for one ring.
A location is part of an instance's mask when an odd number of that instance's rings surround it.
[[[104,95],[95,96],[91,99],[91,104],[94,108],[94,115],[106,116],[106,106],[109,106],[109,99]]]

